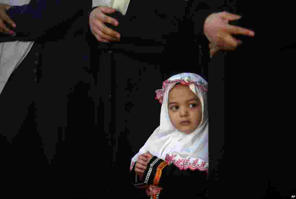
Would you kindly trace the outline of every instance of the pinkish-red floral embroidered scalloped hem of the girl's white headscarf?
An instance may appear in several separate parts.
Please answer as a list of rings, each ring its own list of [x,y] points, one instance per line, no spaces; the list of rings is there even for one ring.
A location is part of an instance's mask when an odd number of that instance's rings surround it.
[[[207,171],[208,172],[207,162],[202,161],[201,159],[195,159],[192,161],[192,160],[190,160],[190,158],[176,160],[176,156],[177,155],[169,156],[169,154],[167,154],[165,156],[165,162],[167,162],[168,164],[173,163],[180,170],[190,169],[190,170],[194,171],[194,170],[198,169],[200,171]]]

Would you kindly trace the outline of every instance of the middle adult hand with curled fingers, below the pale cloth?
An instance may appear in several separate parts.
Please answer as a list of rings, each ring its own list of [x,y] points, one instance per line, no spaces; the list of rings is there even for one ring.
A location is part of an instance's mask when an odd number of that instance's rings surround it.
[[[105,23],[110,23],[114,26],[118,26],[118,21],[106,14],[112,14],[116,12],[115,9],[102,6],[94,9],[89,15],[89,26],[91,33],[100,42],[120,41],[120,34],[111,28],[107,27]]]

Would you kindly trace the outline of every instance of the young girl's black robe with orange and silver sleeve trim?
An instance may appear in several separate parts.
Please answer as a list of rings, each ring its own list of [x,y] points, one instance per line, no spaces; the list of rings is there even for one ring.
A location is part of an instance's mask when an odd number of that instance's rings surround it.
[[[153,164],[154,163],[154,164]],[[150,169],[150,165],[151,166]],[[198,169],[179,169],[173,163],[168,165],[162,159],[157,160],[157,156],[153,156],[149,161],[142,180],[139,180],[135,172],[135,164],[132,165],[130,173],[130,182],[137,188],[146,190],[150,185],[161,187],[162,190],[158,194],[159,198],[205,198],[208,190],[207,171],[199,171]],[[151,172],[149,172],[151,171]],[[135,182],[137,177],[137,182]],[[140,195],[138,198],[150,198],[150,196]],[[156,194],[153,195],[156,197]]]

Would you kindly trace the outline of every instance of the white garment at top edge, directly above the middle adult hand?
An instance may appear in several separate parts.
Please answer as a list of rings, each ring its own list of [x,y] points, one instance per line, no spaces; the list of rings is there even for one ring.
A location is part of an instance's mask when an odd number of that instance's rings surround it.
[[[138,0],[136,0],[138,1]],[[128,10],[128,4],[130,0],[93,0],[92,5],[94,6],[107,6],[113,8],[123,15],[126,15]]]

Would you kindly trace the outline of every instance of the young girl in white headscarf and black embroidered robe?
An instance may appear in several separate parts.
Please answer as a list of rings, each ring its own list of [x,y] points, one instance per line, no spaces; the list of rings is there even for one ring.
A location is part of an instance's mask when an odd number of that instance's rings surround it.
[[[156,91],[160,126],[131,160],[133,185],[148,198],[203,196],[207,190],[207,82],[181,73]]]

